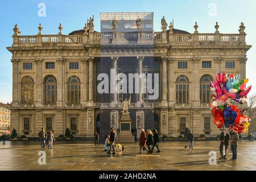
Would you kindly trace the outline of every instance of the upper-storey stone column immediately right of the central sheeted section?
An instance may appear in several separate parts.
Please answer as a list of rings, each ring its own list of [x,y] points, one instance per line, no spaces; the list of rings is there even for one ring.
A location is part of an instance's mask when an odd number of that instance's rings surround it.
[[[162,57],[162,98],[161,106],[168,106],[167,102],[167,57]]]

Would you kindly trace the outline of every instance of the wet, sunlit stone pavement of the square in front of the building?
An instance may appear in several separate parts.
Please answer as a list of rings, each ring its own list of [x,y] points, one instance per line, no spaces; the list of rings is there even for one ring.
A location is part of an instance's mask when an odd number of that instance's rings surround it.
[[[104,144],[55,142],[53,150],[44,150],[46,164],[39,165],[40,142],[7,141],[0,143],[0,170],[256,170],[256,142],[239,144],[237,162],[218,160],[218,141],[196,141],[192,154],[185,151],[186,145],[160,143],[160,153],[147,155],[139,154],[138,144],[125,144],[125,151],[110,156]],[[217,152],[217,164],[209,164],[209,151]]]

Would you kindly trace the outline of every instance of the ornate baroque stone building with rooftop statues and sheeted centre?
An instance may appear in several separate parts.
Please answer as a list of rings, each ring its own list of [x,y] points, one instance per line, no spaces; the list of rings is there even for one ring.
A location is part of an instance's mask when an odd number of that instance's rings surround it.
[[[131,128],[156,128],[160,135],[177,137],[185,128],[196,136],[220,133],[213,124],[209,84],[217,73],[240,73],[246,77],[245,26],[237,34],[178,30],[163,17],[162,31],[153,30],[153,13],[101,14],[101,32],[94,31],[94,18],[83,30],[63,35],[20,35],[14,27],[13,102],[11,129],[36,137],[41,127],[55,135],[71,129],[76,137],[104,137],[110,127],[119,129],[122,102],[130,98]],[[132,18],[131,18],[132,17]],[[129,26],[127,26],[127,24]],[[168,29],[168,30],[167,30]],[[131,73],[158,73],[159,97],[148,100],[139,93],[99,94],[99,73],[110,69]],[[115,86],[115,85],[114,85]],[[112,86],[110,85],[110,88]],[[246,105],[244,106],[246,107]]]

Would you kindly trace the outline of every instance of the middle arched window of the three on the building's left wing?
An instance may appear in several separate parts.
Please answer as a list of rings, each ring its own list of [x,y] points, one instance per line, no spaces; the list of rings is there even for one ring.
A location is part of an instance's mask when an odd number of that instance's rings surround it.
[[[44,103],[56,104],[57,99],[57,80],[54,76],[49,75],[44,78]]]

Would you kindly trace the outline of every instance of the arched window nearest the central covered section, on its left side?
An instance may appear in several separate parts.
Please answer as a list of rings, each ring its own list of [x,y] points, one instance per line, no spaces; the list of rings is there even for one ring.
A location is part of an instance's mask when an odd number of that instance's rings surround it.
[[[68,79],[68,104],[80,103],[80,79],[72,76]]]

